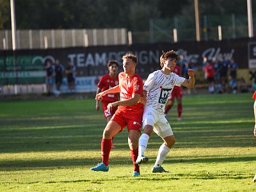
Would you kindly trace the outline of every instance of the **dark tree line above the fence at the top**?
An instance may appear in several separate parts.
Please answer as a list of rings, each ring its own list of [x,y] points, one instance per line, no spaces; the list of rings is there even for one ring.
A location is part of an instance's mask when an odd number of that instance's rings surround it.
[[[201,16],[247,14],[245,0],[198,2]],[[127,28],[145,31],[150,19],[195,18],[194,0],[15,0],[15,13],[17,29]],[[10,0],[0,0],[0,29],[11,29]]]

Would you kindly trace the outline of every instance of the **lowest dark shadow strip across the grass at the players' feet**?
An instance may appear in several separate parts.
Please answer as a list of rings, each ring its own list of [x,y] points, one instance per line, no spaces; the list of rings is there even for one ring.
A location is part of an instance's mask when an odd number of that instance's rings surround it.
[[[248,162],[255,161],[255,157],[245,156],[245,157],[176,157],[176,159],[166,159],[164,163],[228,163],[228,162]],[[90,159],[90,158],[80,158],[80,159],[49,159],[49,160],[9,160],[0,162],[1,171],[17,171],[17,170],[36,170],[36,169],[51,169],[51,168],[63,168],[64,166],[95,166],[99,163],[99,159]],[[153,161],[153,160],[150,160]],[[110,159],[110,165],[120,165],[120,164],[131,164],[132,161],[129,158],[115,157]]]

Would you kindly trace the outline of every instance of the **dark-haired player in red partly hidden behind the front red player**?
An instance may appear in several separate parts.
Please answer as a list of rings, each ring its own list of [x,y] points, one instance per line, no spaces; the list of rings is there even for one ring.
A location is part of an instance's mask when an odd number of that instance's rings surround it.
[[[109,74],[106,74],[105,76],[102,76],[100,78],[96,95],[99,94],[100,92],[104,92],[105,90],[108,90],[109,88],[113,88],[114,86],[118,85],[118,62],[108,61],[108,70],[109,70]],[[101,99],[102,111],[104,113],[104,117],[106,118],[107,122],[109,122],[109,120],[114,115],[117,109],[117,106],[116,106],[115,108],[108,111],[107,106],[109,103],[115,102],[117,100],[118,100],[118,93],[106,94]],[[99,108],[100,108],[99,100],[96,100],[96,110],[99,111]],[[111,148],[115,148],[115,146],[112,144]]]

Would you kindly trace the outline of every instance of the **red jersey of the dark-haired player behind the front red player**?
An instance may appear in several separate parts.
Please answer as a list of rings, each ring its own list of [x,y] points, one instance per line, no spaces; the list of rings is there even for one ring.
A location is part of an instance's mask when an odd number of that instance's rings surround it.
[[[109,76],[109,74],[102,76],[98,83],[98,87],[101,89],[101,92],[109,90],[109,88],[112,88],[116,85],[118,85],[118,77],[112,78]],[[118,93],[104,95],[101,100],[115,102],[118,100]]]

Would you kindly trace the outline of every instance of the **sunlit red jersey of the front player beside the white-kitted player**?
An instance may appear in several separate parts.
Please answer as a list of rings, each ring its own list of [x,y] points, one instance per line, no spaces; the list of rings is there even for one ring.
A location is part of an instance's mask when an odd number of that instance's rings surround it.
[[[127,100],[132,98],[132,94],[136,93],[142,95],[143,81],[138,74],[135,74],[131,78],[125,76],[125,72],[120,72],[118,75],[119,87],[120,87],[120,100]],[[132,115],[143,113],[143,104],[137,103],[134,106],[118,106],[118,109],[122,111],[131,111]]]

